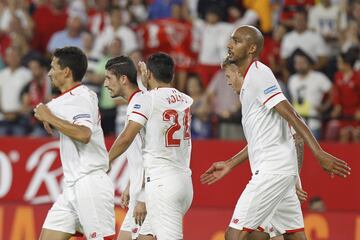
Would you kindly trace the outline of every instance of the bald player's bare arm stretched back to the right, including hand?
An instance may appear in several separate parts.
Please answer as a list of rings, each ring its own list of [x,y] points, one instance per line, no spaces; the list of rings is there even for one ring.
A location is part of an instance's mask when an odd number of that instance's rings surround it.
[[[321,167],[329,174],[347,177],[351,168],[348,164],[331,154],[325,152],[316,141],[309,128],[301,120],[294,108],[288,101],[282,101],[275,106],[275,110],[295,129],[310,147],[315,157],[319,160]]]

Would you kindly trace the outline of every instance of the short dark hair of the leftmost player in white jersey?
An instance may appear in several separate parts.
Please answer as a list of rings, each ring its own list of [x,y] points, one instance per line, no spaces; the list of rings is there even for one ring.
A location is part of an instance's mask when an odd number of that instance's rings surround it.
[[[54,57],[59,59],[61,69],[68,67],[75,82],[81,82],[87,69],[86,55],[77,47],[57,48]]]

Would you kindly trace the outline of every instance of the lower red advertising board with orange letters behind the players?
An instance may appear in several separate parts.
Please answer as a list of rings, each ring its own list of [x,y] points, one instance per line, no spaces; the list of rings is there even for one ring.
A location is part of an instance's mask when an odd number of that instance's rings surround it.
[[[1,240],[36,240],[51,204],[0,204]],[[126,211],[116,209],[118,230]],[[185,217],[184,239],[223,240],[232,210],[192,208]],[[304,215],[308,240],[360,240],[360,214],[350,212]],[[72,238],[82,240],[83,238]]]

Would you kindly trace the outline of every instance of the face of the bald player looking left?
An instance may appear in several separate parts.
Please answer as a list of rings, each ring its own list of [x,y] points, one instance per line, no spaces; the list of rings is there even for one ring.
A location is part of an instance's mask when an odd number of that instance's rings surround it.
[[[246,34],[241,30],[235,30],[228,43],[228,58],[233,62],[242,62],[248,56],[249,42]]]

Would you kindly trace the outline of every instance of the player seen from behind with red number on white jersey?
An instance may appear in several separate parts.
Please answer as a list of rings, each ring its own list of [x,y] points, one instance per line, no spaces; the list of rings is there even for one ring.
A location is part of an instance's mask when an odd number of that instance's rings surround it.
[[[144,65],[143,65],[144,66]],[[174,61],[151,55],[142,67],[148,92],[134,102],[129,122],[110,149],[110,161],[123,154],[145,129],[143,157],[146,206],[158,240],[183,239],[183,217],[193,198],[190,155],[192,98],[171,87]]]

